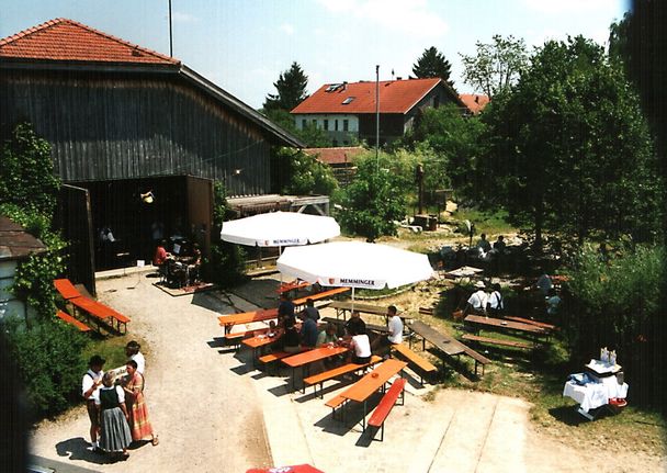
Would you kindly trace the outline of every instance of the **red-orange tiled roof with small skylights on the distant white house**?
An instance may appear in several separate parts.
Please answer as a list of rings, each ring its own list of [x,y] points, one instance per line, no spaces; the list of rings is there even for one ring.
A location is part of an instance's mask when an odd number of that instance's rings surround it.
[[[381,81],[380,113],[407,113],[439,83],[437,78]],[[350,103],[342,103],[352,97]],[[375,81],[326,83],[291,113],[375,113]]]

